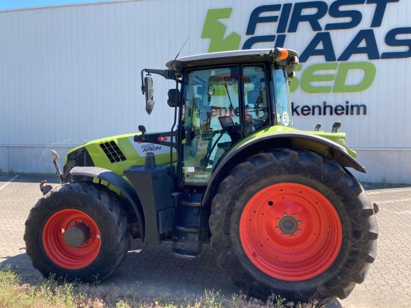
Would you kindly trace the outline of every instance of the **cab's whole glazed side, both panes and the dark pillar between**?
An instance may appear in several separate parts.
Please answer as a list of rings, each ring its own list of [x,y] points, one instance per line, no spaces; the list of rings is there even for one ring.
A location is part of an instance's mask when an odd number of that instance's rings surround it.
[[[181,111],[181,183],[207,185],[235,143],[270,125],[264,64],[188,71]]]

